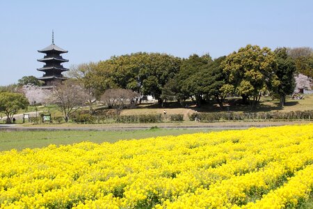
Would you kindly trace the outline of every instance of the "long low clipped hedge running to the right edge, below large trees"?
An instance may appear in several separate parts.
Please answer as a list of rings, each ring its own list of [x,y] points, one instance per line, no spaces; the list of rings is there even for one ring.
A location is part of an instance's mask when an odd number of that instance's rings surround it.
[[[209,112],[209,113],[194,113],[189,115],[190,121],[195,121],[197,118],[200,121],[268,121],[268,120],[298,120],[298,119],[313,119],[313,110],[309,111],[274,111],[274,112]]]

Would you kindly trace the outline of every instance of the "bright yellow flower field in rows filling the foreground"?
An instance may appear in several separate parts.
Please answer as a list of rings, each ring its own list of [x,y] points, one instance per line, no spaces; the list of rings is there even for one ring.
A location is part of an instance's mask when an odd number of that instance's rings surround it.
[[[86,139],[88,140],[88,139]],[[313,124],[0,153],[1,208],[294,208]]]

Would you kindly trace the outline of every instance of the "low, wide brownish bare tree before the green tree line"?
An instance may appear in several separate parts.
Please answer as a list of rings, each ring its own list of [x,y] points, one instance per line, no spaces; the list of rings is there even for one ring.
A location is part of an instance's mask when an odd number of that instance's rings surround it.
[[[109,107],[114,108],[116,114],[120,115],[122,109],[129,107],[131,104],[136,104],[138,97],[139,94],[130,89],[110,88],[101,96],[101,101]]]

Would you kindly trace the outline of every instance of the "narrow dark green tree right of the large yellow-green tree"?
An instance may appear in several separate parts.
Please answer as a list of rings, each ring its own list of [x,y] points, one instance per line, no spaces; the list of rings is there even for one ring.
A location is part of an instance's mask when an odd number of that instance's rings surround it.
[[[275,72],[280,84],[273,88],[273,92],[279,96],[280,105],[283,107],[286,102],[286,95],[294,92],[296,82],[294,75],[296,65],[294,60],[287,54],[287,48],[277,48],[274,51],[276,56],[277,70]]]

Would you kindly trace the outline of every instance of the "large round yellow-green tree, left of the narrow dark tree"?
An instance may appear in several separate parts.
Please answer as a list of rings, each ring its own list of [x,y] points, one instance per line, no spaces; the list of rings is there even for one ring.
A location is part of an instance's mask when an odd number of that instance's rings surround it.
[[[268,86],[278,86],[275,54],[268,47],[247,45],[228,55],[222,63],[228,84],[243,102],[254,108]],[[250,99],[252,98],[252,100]]]

